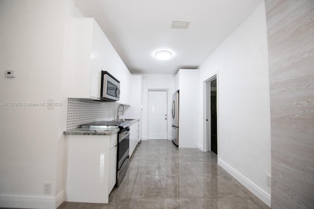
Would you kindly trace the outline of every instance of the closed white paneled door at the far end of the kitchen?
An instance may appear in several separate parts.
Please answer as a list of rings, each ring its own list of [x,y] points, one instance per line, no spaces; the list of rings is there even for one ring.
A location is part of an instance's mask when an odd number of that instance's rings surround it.
[[[148,92],[148,139],[167,139],[167,91]]]

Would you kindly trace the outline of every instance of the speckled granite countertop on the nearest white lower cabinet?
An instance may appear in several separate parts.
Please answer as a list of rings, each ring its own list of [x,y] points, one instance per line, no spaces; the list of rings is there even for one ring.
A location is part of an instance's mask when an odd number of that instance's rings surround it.
[[[114,135],[119,132],[119,128],[110,128],[110,129],[96,129],[91,130],[88,128],[74,128],[69,129],[63,132],[65,135]]]

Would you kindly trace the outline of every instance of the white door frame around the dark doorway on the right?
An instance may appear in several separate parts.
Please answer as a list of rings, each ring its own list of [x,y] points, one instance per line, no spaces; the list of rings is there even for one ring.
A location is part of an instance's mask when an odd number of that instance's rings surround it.
[[[216,79],[216,95],[217,95],[217,160],[219,159],[219,80],[218,80],[218,71],[215,73],[211,74],[211,76],[206,79],[203,82],[203,88],[204,88],[204,139],[203,139],[203,144],[204,144],[204,151],[208,152],[210,151],[210,120],[206,122],[206,119],[209,119],[210,116],[210,102],[208,102],[208,97],[210,97],[208,88],[210,88],[210,82]]]

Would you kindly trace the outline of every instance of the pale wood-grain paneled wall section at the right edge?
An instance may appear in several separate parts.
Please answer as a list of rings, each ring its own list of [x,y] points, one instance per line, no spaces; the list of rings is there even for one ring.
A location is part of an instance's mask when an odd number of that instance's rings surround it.
[[[314,208],[314,0],[265,0],[271,207]]]

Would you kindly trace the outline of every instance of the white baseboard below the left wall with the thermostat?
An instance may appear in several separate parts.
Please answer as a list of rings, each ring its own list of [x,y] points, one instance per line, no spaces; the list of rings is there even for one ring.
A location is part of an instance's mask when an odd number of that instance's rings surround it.
[[[55,197],[0,194],[0,208],[56,209],[64,202],[64,191]]]

